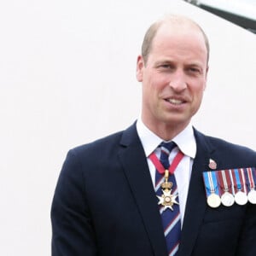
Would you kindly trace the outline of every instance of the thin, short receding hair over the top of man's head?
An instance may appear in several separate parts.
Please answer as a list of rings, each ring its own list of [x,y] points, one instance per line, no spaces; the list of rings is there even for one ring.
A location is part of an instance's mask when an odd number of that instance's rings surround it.
[[[210,45],[209,40],[207,38],[207,34],[204,32],[204,30],[201,28],[201,26],[195,22],[195,20],[189,19],[189,17],[183,16],[183,15],[165,15],[160,20],[156,20],[151,26],[149,26],[147,32],[145,33],[144,39],[143,39],[143,45],[142,45],[142,56],[145,63],[148,61],[148,55],[152,49],[152,43],[154,41],[156,33],[159,31],[160,26],[171,23],[173,26],[191,26],[197,28],[205,41],[206,48],[207,48],[207,62],[209,60],[209,54],[210,54]]]

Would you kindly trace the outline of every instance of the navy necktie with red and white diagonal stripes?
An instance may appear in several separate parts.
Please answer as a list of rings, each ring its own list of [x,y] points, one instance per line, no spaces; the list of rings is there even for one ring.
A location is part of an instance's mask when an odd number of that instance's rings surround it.
[[[160,162],[168,169],[170,166],[169,155],[173,148],[177,145],[173,142],[171,143],[161,143],[160,144]],[[161,183],[165,181],[163,174],[160,174],[157,170],[155,172],[155,191],[156,195],[163,195],[161,189]],[[177,183],[174,174],[169,175],[168,182],[172,183],[172,195],[177,194]],[[178,202],[178,199],[176,198]],[[168,251],[168,256],[177,255],[177,250],[180,242],[181,234],[181,215],[179,211],[178,204],[173,205],[173,211],[170,208],[164,210],[164,207],[160,205],[160,215],[162,218],[163,229],[166,237],[166,247]]]

